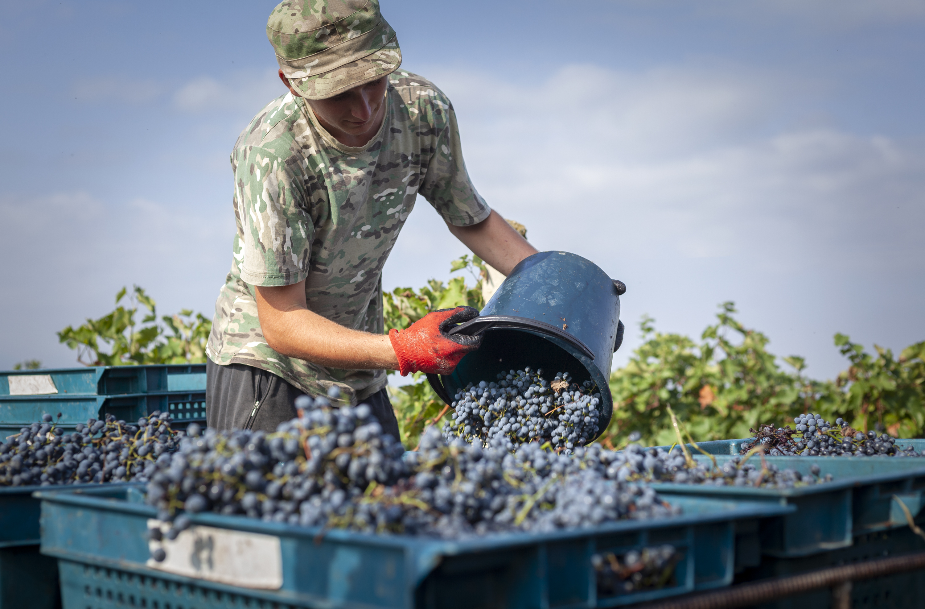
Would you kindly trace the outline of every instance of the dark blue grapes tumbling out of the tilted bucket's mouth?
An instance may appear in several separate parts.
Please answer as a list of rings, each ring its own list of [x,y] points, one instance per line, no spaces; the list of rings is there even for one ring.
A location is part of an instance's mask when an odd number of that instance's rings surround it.
[[[552,381],[543,370],[510,370],[494,382],[469,383],[450,404],[451,422],[444,425],[448,440],[502,441],[508,450],[538,441],[557,452],[572,453],[598,435],[600,393],[593,382],[572,382],[567,372]]]

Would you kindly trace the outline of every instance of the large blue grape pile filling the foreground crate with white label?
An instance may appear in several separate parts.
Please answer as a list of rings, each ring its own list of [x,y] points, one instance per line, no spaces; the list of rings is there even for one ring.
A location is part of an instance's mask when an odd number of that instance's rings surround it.
[[[419,452],[403,455],[364,404],[333,408],[302,396],[297,407],[302,416],[270,434],[191,425],[179,452],[158,458],[148,484],[148,503],[172,521],[152,529],[152,539],[190,526],[181,509],[449,539],[676,513],[651,487],[612,479],[614,454],[598,446],[570,456],[532,442],[510,453],[448,443],[430,428]]]

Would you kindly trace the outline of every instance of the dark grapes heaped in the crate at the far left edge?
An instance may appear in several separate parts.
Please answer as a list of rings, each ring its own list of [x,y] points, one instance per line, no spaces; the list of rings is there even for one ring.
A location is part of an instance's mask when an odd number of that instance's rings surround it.
[[[58,417],[61,415],[59,414]],[[0,486],[146,482],[154,460],[177,448],[168,413],[142,416],[135,424],[106,416],[65,433],[45,414],[0,443]]]

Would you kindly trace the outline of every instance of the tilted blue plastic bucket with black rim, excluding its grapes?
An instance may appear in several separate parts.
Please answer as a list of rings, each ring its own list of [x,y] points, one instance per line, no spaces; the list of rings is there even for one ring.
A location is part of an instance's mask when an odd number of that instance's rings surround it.
[[[528,366],[547,376],[568,372],[574,382],[597,385],[599,435],[613,412],[608,379],[613,352],[623,341],[620,295],[625,290],[623,282],[580,255],[540,252],[524,258],[479,317],[450,330],[481,334],[482,346],[466,354],[451,375],[427,379],[450,404],[468,383],[493,381],[502,371]]]

